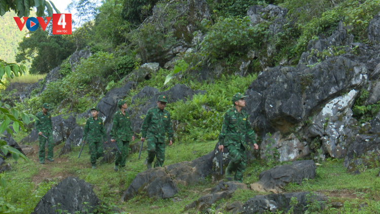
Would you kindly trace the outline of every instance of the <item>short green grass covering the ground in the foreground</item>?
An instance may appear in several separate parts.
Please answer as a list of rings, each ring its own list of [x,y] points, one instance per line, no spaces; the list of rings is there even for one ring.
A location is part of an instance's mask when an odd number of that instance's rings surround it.
[[[207,154],[214,148],[216,141],[208,141],[205,143],[191,142],[188,144],[175,144],[167,147],[165,164],[173,164],[180,161],[189,161]],[[37,151],[36,143],[32,144]],[[115,204],[121,210],[128,213],[183,213],[183,207],[191,203],[193,200],[202,195],[207,194],[203,190],[215,186],[211,182],[211,177],[206,178],[205,183],[196,186],[182,187],[179,186],[180,192],[176,195],[182,199],[179,202],[172,202],[171,199],[151,200],[140,196],[121,203],[120,198],[128,185],[132,182],[138,172],[145,170],[142,164],[143,159],[138,160],[138,154],[130,155],[127,159],[126,171],[115,172],[112,169],[113,164],[100,164],[96,170],[91,169],[90,156],[88,147],[85,146],[80,159],[78,154],[80,147],[73,148],[73,151],[61,158],[57,155],[63,144],[55,148],[54,163],[47,162],[40,165],[37,162],[37,154],[34,152],[29,156],[30,162],[19,160],[18,164],[14,164],[13,160],[7,160],[12,165],[12,170],[6,174],[9,179],[8,186],[4,190],[0,188],[2,197],[11,204],[19,208],[23,208],[23,213],[30,213],[36,203],[48,191],[50,186],[59,182],[60,176],[78,176],[94,185],[96,195],[106,201],[108,204]],[[195,153],[194,153],[195,151]],[[194,154],[193,154],[194,153]],[[244,182],[249,185],[258,180],[258,174],[267,169],[263,166],[262,161],[254,161],[248,164],[245,173]],[[341,161],[329,160],[322,163],[317,168],[317,176],[314,180],[304,181],[301,186],[290,184],[286,186],[287,192],[297,191],[317,191],[324,190],[331,201],[344,203],[344,207],[335,209],[329,207],[323,213],[378,213],[380,210],[380,184],[379,178],[375,175],[378,169],[367,169],[359,175],[351,175],[347,173]],[[45,178],[53,179],[52,182],[44,182]],[[254,197],[258,193],[251,190],[239,190],[233,198],[229,200],[221,200],[215,204],[215,207],[222,207],[228,203],[239,200],[245,202],[248,198]],[[359,205],[366,204],[365,211],[359,211]],[[158,209],[151,209],[151,206],[158,206]],[[362,208],[363,209],[363,208]],[[194,210],[187,210],[192,213]]]

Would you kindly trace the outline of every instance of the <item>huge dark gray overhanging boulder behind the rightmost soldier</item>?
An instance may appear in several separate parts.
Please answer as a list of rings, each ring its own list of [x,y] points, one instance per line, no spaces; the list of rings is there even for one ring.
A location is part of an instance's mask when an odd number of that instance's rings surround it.
[[[341,55],[308,68],[277,66],[260,73],[245,94],[246,111],[261,134],[289,131],[337,95],[361,87],[367,79],[364,64]]]

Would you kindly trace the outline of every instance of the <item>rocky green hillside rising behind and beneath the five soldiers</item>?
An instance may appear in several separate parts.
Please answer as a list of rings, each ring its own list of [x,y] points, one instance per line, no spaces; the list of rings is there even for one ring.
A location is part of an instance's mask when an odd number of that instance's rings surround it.
[[[378,213],[379,0],[112,0],[91,10],[95,19],[72,35],[35,31],[20,43],[19,59],[37,44],[33,73],[50,72],[2,102],[29,114],[50,103],[55,162],[39,164],[33,125],[4,138],[34,152],[30,162],[5,159],[12,169],[1,174],[0,205],[39,213],[51,208],[54,191],[77,185],[73,176],[98,202],[71,212]],[[237,92],[248,95],[244,110],[259,146],[245,148],[241,184],[223,175],[227,149],[220,174],[215,149]],[[166,142],[164,168],[146,170],[146,144],[137,159],[141,125],[159,95],[169,100],[174,145]],[[136,139],[115,172],[109,134],[119,99]],[[107,130],[97,169],[87,145],[78,158],[93,106]],[[53,201],[51,209],[68,209]]]

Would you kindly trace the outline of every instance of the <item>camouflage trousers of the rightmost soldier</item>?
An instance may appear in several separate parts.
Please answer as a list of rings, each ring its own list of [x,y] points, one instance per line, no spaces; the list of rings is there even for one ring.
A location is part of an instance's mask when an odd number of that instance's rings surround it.
[[[231,144],[228,146],[230,163],[227,166],[226,173],[232,174],[236,171],[234,180],[238,182],[243,182],[243,173],[247,168],[245,161],[247,160],[247,155],[245,154],[245,148],[242,144]]]

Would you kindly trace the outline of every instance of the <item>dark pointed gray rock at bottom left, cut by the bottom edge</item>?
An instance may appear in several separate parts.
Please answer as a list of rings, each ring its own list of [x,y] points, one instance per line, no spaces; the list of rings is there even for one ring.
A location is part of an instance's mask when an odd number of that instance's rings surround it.
[[[92,212],[99,203],[91,184],[78,177],[66,177],[42,197],[32,214],[55,214],[58,204],[59,209],[69,213]]]

